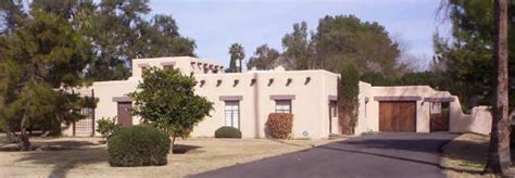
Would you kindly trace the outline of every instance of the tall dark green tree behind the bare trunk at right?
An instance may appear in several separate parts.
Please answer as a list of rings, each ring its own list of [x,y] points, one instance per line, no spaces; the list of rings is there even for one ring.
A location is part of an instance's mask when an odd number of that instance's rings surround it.
[[[508,4],[514,9],[515,4]],[[452,40],[435,36],[437,59],[435,65],[443,66],[437,72],[448,82],[442,89],[460,97],[462,105],[492,105],[494,96],[493,44],[493,2],[483,0],[449,1],[443,7],[444,15],[452,23]],[[508,11],[508,18],[515,11]],[[515,22],[510,21],[511,26]],[[508,29],[508,43],[515,43],[515,28]],[[508,69],[511,90],[515,90],[515,46],[508,46]],[[515,100],[515,92],[510,92]],[[510,107],[513,110],[514,103]]]

